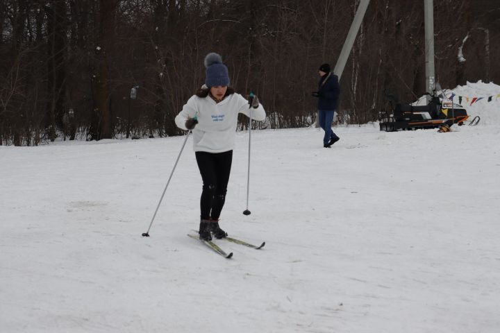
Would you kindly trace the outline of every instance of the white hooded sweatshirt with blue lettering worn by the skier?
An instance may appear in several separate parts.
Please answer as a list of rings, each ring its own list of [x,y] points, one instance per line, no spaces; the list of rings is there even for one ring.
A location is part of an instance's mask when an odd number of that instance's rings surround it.
[[[178,128],[187,130],[185,121],[197,117],[197,126],[192,130],[194,151],[223,153],[231,151],[235,144],[235,132],[238,125],[238,113],[252,119],[263,121],[265,110],[262,104],[249,109],[249,103],[240,94],[226,96],[219,103],[210,97],[192,96],[177,114],[175,122]]]

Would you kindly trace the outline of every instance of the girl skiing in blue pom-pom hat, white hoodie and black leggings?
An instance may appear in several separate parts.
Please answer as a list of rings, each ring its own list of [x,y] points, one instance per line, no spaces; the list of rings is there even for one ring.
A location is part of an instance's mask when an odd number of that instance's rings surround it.
[[[206,80],[196,94],[191,96],[176,116],[178,128],[192,130],[193,148],[196,155],[203,188],[200,199],[199,237],[210,241],[227,236],[219,226],[219,216],[226,200],[233,147],[235,144],[238,114],[263,121],[265,110],[257,96],[247,101],[229,86],[227,67],[217,53],[205,57]]]

